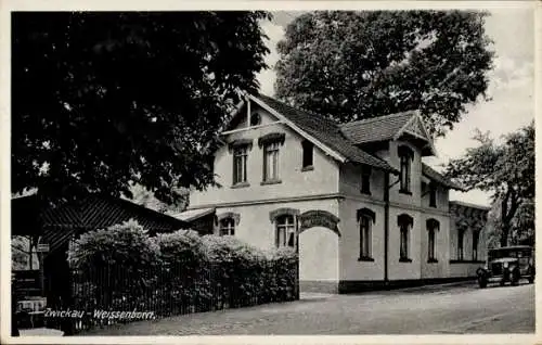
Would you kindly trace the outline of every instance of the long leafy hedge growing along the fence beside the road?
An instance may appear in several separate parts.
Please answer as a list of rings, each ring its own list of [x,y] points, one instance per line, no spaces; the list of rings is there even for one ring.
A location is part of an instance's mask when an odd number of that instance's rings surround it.
[[[134,311],[160,318],[299,298],[292,250],[262,252],[233,237],[193,231],[149,238],[134,222],[106,231],[83,234],[69,252],[74,297],[62,308],[82,314],[62,322],[49,316],[49,324],[76,333],[149,317]]]

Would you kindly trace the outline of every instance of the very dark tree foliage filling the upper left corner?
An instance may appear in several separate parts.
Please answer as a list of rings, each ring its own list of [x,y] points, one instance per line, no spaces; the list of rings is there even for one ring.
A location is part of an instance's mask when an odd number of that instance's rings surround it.
[[[12,14],[12,191],[172,203],[214,183],[218,129],[256,92],[264,12]]]

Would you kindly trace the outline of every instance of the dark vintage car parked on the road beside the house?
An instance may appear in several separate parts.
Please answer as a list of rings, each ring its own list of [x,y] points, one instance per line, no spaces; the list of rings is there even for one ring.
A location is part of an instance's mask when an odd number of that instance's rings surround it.
[[[525,278],[534,281],[534,248],[528,245],[506,246],[489,250],[488,261],[485,267],[478,268],[478,284],[486,288],[490,282],[504,285],[509,282],[516,285]]]

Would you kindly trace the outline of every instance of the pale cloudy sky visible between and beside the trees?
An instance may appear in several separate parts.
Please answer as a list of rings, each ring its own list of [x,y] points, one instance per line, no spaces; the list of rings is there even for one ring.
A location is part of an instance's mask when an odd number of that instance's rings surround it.
[[[488,93],[491,101],[481,101],[468,106],[461,123],[446,136],[435,141],[438,156],[424,159],[437,170],[451,158],[462,156],[466,149],[476,146],[472,138],[475,129],[490,131],[495,139],[528,125],[534,118],[534,20],[531,9],[492,9],[486,18],[485,29],[493,41],[495,52],[493,69],[489,73]],[[273,21],[262,27],[269,37],[270,53],[266,58],[271,67],[258,75],[260,91],[274,93],[275,73],[273,66],[279,60],[276,43],[284,38],[284,31],[299,12],[275,12]],[[482,191],[467,193],[451,191],[450,200],[480,205],[490,205],[490,194]]]

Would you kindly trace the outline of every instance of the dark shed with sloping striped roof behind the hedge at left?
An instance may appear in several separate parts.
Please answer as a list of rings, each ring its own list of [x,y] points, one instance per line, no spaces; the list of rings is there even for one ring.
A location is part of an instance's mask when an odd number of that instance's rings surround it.
[[[79,234],[137,220],[151,235],[188,229],[188,222],[111,196],[88,195],[77,202],[44,203],[37,194],[13,197],[11,235],[31,237],[48,246],[42,254],[41,292],[48,305],[70,297],[67,250]]]

